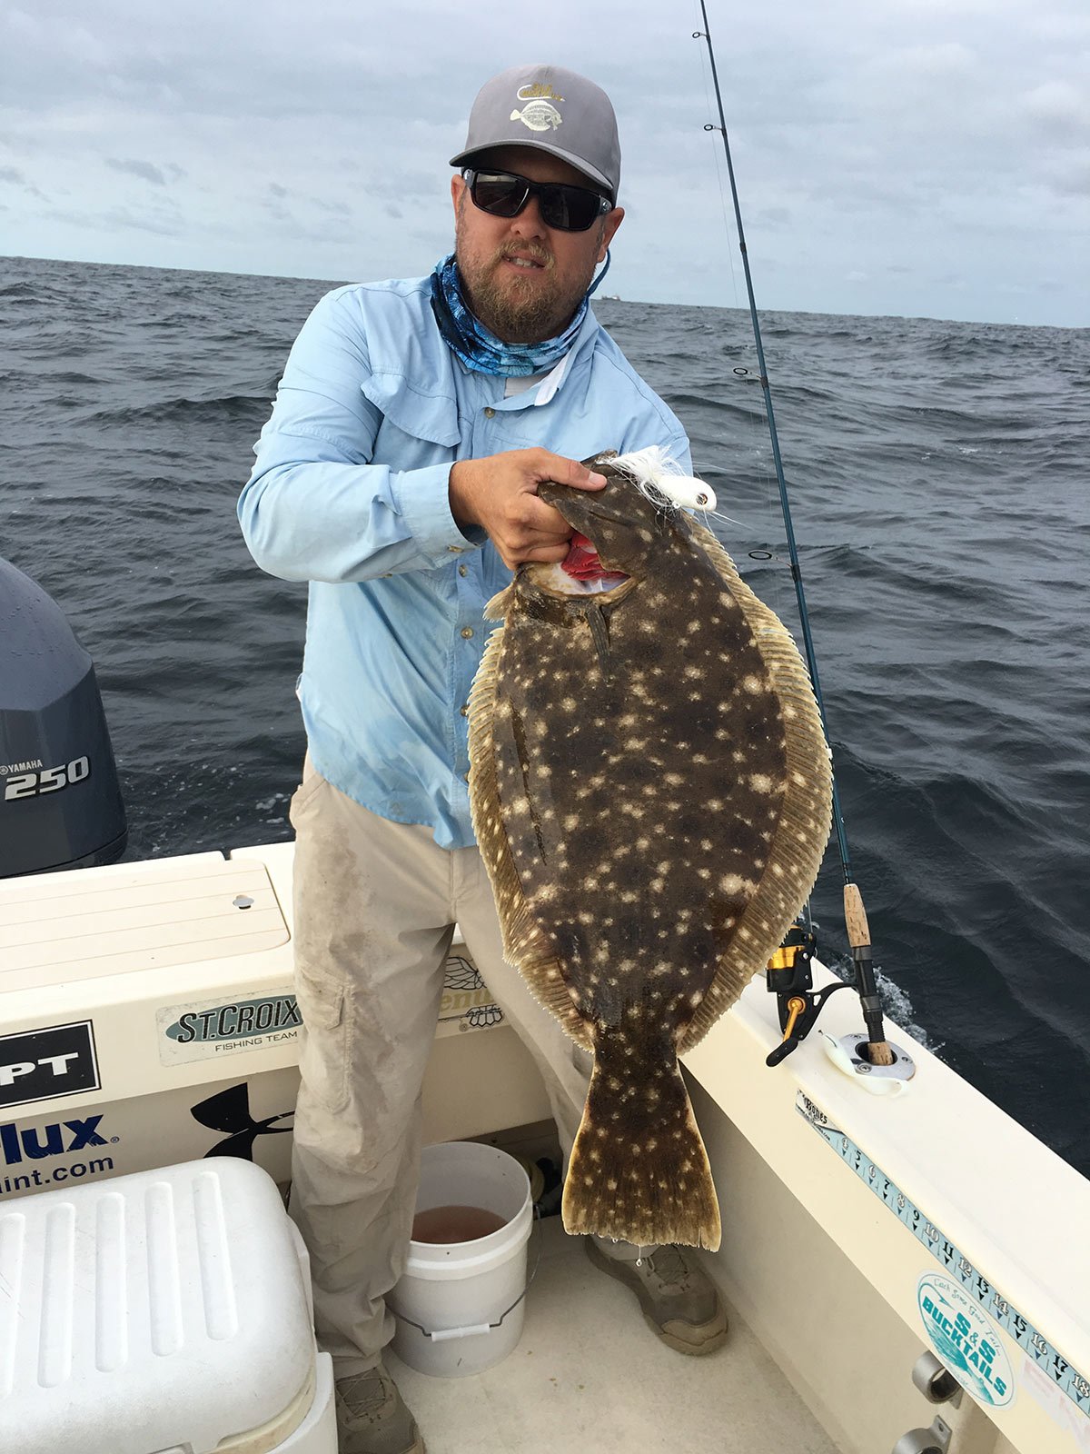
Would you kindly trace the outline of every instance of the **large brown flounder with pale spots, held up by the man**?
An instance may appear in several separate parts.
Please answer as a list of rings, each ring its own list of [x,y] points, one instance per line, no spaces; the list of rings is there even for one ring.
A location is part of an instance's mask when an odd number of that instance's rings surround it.
[[[779,947],[828,839],[828,749],[789,632],[715,538],[609,457],[541,486],[610,571],[525,564],[469,699],[504,952],[594,1054],[564,1226],[716,1248],[677,1056]],[[574,593],[573,593],[574,592]]]

